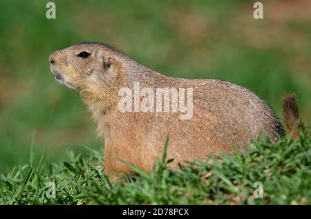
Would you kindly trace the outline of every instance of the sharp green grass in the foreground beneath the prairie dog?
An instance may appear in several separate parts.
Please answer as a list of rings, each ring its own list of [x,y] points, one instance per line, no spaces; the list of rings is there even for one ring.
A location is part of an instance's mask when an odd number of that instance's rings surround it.
[[[300,132],[297,140],[290,135],[276,143],[258,140],[243,154],[211,156],[176,171],[167,166],[173,162],[166,158],[167,146],[151,173],[126,164],[138,174],[122,184],[109,181],[102,154],[91,149],[84,158],[67,151],[66,162],[53,164],[32,155],[28,164],[1,175],[0,203],[310,204],[310,131]],[[55,183],[52,198],[50,182]],[[255,198],[260,195],[256,182],[263,186],[262,198]]]

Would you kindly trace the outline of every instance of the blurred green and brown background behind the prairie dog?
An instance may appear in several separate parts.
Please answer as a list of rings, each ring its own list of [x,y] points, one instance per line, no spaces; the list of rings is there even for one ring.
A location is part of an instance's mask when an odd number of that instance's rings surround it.
[[[0,1],[0,173],[35,153],[48,162],[65,149],[102,147],[75,93],[55,82],[50,53],[100,41],[176,77],[223,79],[251,88],[281,117],[295,92],[311,121],[311,1]]]

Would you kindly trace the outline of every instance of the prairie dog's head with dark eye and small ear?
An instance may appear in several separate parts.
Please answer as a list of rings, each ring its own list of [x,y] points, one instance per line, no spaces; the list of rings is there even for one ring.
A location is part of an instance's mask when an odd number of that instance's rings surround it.
[[[120,55],[96,43],[76,44],[50,55],[50,68],[60,84],[77,93],[96,93],[117,84]]]

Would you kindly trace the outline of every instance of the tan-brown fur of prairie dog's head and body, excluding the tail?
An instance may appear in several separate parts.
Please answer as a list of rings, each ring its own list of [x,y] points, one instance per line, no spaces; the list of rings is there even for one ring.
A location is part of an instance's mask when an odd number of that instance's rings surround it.
[[[81,58],[82,51],[91,53]],[[279,119],[251,91],[216,79],[182,79],[161,75],[104,44],[77,44],[50,56],[59,82],[79,93],[105,140],[105,173],[131,172],[120,160],[151,171],[169,135],[167,158],[178,162],[206,158],[211,153],[241,150],[259,135],[278,140],[283,135]],[[177,113],[122,113],[117,92],[133,88],[194,88],[194,115],[178,119]]]

